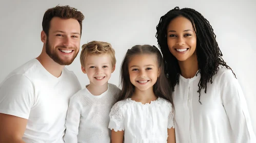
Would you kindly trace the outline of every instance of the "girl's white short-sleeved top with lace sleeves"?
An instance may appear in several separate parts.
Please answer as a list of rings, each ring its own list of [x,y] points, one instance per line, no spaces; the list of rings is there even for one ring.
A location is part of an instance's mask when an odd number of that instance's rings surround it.
[[[167,142],[167,128],[174,128],[172,105],[158,98],[142,104],[128,98],[117,102],[109,114],[109,128],[124,131],[127,143]]]

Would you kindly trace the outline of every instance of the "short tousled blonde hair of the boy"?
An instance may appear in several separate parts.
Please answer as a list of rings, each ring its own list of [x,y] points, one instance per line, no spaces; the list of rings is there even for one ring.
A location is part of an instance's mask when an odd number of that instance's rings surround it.
[[[109,54],[112,58],[112,66],[114,66],[116,63],[115,51],[112,48],[111,44],[108,42],[91,41],[87,44],[83,44],[80,54],[80,62],[83,67],[85,67],[86,58],[91,54]]]

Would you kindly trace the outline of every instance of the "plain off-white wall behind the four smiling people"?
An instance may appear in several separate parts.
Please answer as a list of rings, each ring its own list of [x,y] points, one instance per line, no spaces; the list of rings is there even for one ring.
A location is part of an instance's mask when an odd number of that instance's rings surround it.
[[[40,33],[44,12],[58,4],[75,7],[85,15],[81,46],[91,40],[112,44],[116,51],[117,68],[110,82],[116,85],[119,85],[120,65],[127,49],[135,44],[157,45],[155,27],[162,15],[175,6],[199,11],[209,20],[224,60],[237,75],[256,133],[256,112],[253,111],[256,108],[255,0],[1,1],[0,82],[10,71],[41,53],[43,43]],[[74,71],[83,87],[89,83],[81,71],[79,58],[67,67]]]

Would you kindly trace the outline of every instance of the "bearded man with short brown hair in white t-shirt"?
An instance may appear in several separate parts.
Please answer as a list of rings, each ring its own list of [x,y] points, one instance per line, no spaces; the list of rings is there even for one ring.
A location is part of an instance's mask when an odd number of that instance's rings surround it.
[[[65,65],[80,49],[83,19],[69,6],[45,12],[42,53],[0,84],[0,142],[64,142],[69,98],[81,89]]]

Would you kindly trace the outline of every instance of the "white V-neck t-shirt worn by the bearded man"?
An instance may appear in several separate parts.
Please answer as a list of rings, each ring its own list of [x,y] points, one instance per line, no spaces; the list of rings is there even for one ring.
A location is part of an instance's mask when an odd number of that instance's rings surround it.
[[[51,75],[36,59],[18,67],[0,84],[0,113],[28,120],[23,140],[64,142],[70,97],[81,89],[72,71]]]

